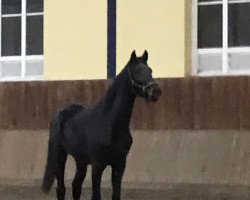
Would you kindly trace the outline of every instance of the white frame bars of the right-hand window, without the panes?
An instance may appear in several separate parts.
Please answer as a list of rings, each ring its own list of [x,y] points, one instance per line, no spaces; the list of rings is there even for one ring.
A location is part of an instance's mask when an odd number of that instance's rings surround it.
[[[228,75],[250,75],[249,69],[230,70],[229,54],[230,53],[249,53],[250,46],[247,47],[229,47],[229,4],[250,3],[250,0],[219,0],[212,2],[198,2],[192,0],[192,74],[194,76],[228,76]],[[222,5],[222,47],[221,48],[198,48],[198,7],[208,5]],[[204,71],[199,72],[199,55],[222,53],[222,70],[221,71]]]

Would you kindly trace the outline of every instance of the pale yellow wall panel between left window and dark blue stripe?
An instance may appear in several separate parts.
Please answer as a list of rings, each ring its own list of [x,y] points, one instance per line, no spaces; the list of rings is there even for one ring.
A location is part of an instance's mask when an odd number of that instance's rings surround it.
[[[46,80],[107,77],[107,2],[45,0]]]

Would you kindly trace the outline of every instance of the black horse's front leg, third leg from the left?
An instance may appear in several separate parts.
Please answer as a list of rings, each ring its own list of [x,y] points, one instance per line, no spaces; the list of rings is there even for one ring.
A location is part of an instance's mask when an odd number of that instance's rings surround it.
[[[92,164],[92,198],[91,200],[101,200],[101,179],[106,165]]]

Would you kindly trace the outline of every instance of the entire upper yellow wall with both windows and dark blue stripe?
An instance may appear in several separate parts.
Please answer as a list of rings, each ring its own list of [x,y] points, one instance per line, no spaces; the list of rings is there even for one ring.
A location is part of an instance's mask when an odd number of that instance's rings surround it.
[[[250,74],[250,0],[1,0],[0,80]]]

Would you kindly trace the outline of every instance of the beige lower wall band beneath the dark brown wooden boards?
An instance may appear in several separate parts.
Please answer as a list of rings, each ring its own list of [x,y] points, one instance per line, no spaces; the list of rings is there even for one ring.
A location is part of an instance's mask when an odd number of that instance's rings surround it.
[[[250,185],[249,131],[134,130],[124,187],[166,189],[169,185]],[[0,131],[0,185],[40,185],[48,130]],[[66,182],[75,164],[69,157]],[[90,170],[85,186],[90,186]],[[110,187],[110,168],[103,186]]]

